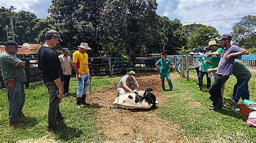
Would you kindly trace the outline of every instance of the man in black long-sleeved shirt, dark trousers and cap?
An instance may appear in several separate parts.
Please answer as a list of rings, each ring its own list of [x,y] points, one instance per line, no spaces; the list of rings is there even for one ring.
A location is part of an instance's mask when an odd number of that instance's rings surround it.
[[[53,50],[59,41],[59,33],[49,30],[45,34],[45,43],[38,50],[38,67],[43,72],[43,80],[50,95],[48,107],[47,131],[62,130],[57,121],[64,119],[59,111],[60,99],[63,98],[63,72],[57,53]]]

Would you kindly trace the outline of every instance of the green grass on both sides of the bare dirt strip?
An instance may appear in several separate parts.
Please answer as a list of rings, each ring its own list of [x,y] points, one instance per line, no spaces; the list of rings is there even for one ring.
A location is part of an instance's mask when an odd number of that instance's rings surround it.
[[[176,72],[171,74],[177,74]],[[193,74],[193,73],[192,73]],[[254,73],[255,74],[255,73]],[[93,90],[106,90],[114,87],[120,77],[103,77],[93,79]],[[194,79],[196,80],[196,79]],[[252,100],[256,100],[253,77],[250,81]],[[163,92],[168,96],[164,106],[158,107],[157,117],[179,125],[180,137],[186,136],[194,141],[255,141],[255,128],[245,125],[246,119],[234,110],[224,108],[218,112],[208,110],[211,104],[207,92],[198,91],[193,80],[185,78],[172,80],[176,91]],[[206,81],[204,81],[206,83]],[[75,78],[71,79],[70,92],[75,96],[77,91]],[[160,84],[160,83],[159,83]],[[235,78],[231,77],[225,90],[224,102],[231,97]],[[14,129],[8,124],[8,98],[5,89],[0,90],[0,141],[28,141],[54,140],[54,141],[104,141],[109,137],[99,131],[95,118],[98,108],[84,107],[82,110],[75,108],[75,98],[66,97],[60,103],[60,111],[67,118],[62,126],[63,131],[47,133],[47,109],[49,95],[42,82],[31,84],[25,89],[26,100],[23,112],[29,115],[23,118],[24,126]],[[105,129],[111,130],[111,129]],[[157,141],[157,140],[156,140]]]

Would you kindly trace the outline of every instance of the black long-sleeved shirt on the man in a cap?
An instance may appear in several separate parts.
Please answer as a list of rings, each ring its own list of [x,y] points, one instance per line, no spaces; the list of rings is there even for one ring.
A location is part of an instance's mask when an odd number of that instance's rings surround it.
[[[44,83],[58,78],[63,81],[62,67],[57,53],[48,46],[41,46],[38,50],[38,67],[43,72]]]

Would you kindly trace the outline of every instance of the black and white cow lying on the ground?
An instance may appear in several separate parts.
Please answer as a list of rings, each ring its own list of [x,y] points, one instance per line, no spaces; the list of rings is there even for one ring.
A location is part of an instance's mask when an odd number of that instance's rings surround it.
[[[126,109],[148,109],[158,104],[156,96],[151,93],[152,88],[146,90],[137,90],[134,93],[119,95],[113,102],[121,108]]]

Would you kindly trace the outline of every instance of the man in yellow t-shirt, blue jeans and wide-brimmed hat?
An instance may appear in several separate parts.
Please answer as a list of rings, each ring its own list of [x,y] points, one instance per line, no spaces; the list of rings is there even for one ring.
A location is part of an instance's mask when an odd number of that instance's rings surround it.
[[[89,62],[87,50],[91,50],[87,43],[81,43],[79,50],[73,53],[73,67],[77,74],[77,105],[78,109],[82,108],[80,105],[89,105],[86,103],[86,88],[91,79],[89,72]]]

